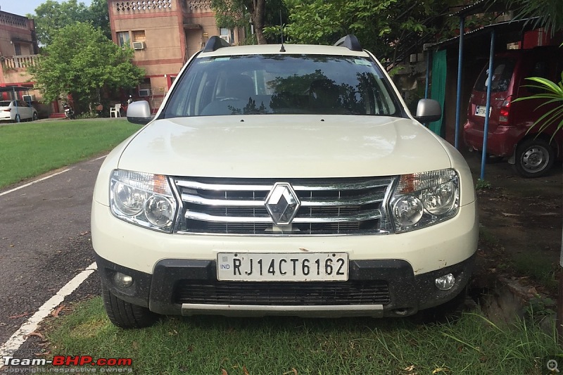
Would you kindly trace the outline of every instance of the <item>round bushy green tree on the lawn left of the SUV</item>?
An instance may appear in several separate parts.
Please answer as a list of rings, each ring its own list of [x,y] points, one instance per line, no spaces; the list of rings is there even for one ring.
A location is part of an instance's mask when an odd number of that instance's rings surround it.
[[[29,72],[46,101],[70,95],[77,112],[91,111],[103,91],[130,89],[144,77],[132,64],[133,50],[113,44],[89,23],[53,32],[39,63]]]

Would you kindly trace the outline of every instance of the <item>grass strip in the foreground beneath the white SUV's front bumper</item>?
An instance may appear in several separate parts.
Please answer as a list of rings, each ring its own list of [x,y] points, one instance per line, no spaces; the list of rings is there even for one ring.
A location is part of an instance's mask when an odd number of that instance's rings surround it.
[[[498,326],[480,312],[412,319],[167,317],[148,329],[110,324],[101,298],[49,319],[51,355],[131,358],[132,374],[545,374],[555,332]],[[116,369],[114,367],[114,369]],[[122,368],[125,370],[125,368]]]

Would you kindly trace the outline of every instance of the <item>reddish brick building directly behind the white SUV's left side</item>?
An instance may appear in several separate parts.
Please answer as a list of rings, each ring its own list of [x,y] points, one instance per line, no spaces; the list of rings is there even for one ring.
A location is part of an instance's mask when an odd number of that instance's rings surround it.
[[[146,72],[131,94],[153,111],[163,101],[179,70],[209,37],[239,42],[239,30],[217,27],[209,0],[108,0],[113,42],[134,49],[133,63]]]

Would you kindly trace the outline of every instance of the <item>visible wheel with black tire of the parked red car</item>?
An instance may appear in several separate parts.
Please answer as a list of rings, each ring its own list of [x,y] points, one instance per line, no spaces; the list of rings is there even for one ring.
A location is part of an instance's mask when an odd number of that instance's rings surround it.
[[[541,177],[546,174],[555,161],[555,151],[548,141],[529,138],[516,148],[514,169],[523,177]]]

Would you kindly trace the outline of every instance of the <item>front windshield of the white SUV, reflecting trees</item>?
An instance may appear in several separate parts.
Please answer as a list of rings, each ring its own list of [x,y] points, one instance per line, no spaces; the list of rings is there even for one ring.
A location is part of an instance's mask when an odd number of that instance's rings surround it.
[[[368,58],[250,55],[196,58],[177,82],[163,117],[331,114],[400,115]]]

